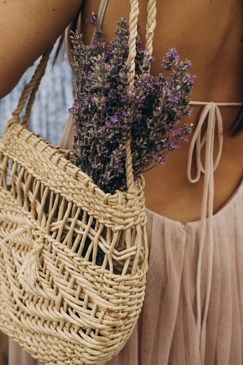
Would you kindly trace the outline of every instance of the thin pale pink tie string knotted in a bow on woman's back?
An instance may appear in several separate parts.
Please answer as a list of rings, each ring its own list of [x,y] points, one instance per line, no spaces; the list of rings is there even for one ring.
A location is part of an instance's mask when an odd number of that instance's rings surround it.
[[[200,220],[200,241],[199,241],[199,257],[197,262],[197,280],[196,280],[196,301],[197,301],[197,332],[199,334],[200,343],[200,357],[201,365],[204,364],[205,359],[205,343],[206,343],[206,322],[209,307],[209,298],[211,291],[212,281],[212,268],[213,268],[213,172],[219,165],[220,156],[223,146],[223,121],[220,114],[219,105],[241,105],[240,103],[204,103],[197,101],[190,101],[190,105],[205,105],[201,112],[199,123],[193,134],[191,145],[189,147],[188,166],[187,166],[187,178],[191,183],[197,183],[199,181],[201,173],[204,174],[204,186],[203,186],[203,200],[201,206],[201,220]],[[207,118],[208,116],[208,118]],[[204,122],[207,120],[207,129],[201,138],[201,129]],[[215,127],[217,125],[217,135],[219,139],[219,152],[215,161],[213,161],[213,144],[215,138]],[[196,145],[196,177],[191,177],[192,155]],[[205,164],[201,162],[201,150],[205,145]],[[207,268],[207,286],[205,295],[204,315],[201,318],[201,265],[203,256],[204,239],[206,233],[206,218],[207,218],[207,206],[208,206],[208,242],[209,242],[209,258]]]

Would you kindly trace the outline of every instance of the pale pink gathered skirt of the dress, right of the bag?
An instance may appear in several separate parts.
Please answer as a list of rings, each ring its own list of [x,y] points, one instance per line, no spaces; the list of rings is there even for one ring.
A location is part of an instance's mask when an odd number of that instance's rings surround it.
[[[147,216],[149,271],[144,305],[128,343],[107,365],[201,365],[195,284],[200,221],[183,225],[149,210]],[[242,217],[243,183],[212,219],[213,264],[204,360],[207,365],[243,363]],[[203,309],[210,256],[208,239],[206,233],[201,264]]]

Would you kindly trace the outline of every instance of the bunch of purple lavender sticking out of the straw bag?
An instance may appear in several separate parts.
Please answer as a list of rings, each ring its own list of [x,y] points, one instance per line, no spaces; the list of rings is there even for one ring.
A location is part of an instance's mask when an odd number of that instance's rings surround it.
[[[162,58],[163,73],[149,75],[154,58],[141,49],[136,40],[134,87],[128,92],[127,19],[117,22],[115,41],[105,44],[97,28],[97,15],[88,19],[95,26],[95,42],[85,46],[82,35],[72,32],[74,47],[73,79],[77,100],[69,109],[74,119],[74,155],[77,165],[105,193],[125,189],[125,144],[132,136],[134,180],[146,170],[165,163],[165,156],[175,150],[178,141],[188,140],[191,126],[177,128],[180,119],[189,115],[188,95],[195,76],[186,59],[179,62],[175,48]],[[170,74],[169,74],[170,73]],[[154,161],[154,165],[149,167]]]

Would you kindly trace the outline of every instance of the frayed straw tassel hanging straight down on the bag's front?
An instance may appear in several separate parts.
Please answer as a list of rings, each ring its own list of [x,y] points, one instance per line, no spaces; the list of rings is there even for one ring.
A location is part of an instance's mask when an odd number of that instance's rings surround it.
[[[44,234],[41,234],[39,239],[35,241],[32,250],[26,255],[17,282],[28,291],[29,288],[33,288],[37,281],[39,281],[39,267],[40,267],[40,251],[44,247]]]

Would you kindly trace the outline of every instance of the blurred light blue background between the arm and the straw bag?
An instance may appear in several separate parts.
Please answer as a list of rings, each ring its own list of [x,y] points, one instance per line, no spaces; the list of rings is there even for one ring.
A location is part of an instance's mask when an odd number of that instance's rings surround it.
[[[68,118],[68,109],[72,106],[72,77],[74,73],[69,65],[64,45],[53,65],[59,39],[48,61],[46,73],[41,81],[32,107],[29,130],[41,134],[44,139],[56,145],[62,135],[63,128]],[[39,60],[32,65],[22,76],[19,84],[13,91],[0,99],[0,135],[4,131],[6,122],[11,118],[12,112],[24,89],[31,80]],[[0,288],[1,291],[1,288]],[[8,364],[8,340],[0,333],[0,365]],[[11,364],[9,364],[11,365]]]

